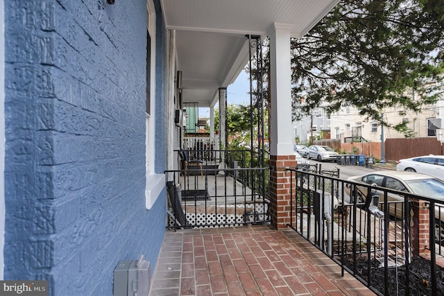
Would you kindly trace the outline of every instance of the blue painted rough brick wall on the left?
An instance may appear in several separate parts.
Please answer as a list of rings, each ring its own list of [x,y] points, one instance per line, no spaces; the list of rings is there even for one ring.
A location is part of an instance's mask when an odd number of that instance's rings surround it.
[[[112,295],[121,260],[153,267],[165,196],[145,204],[146,0],[5,1],[5,279]],[[157,10],[156,113],[164,110]],[[156,116],[156,173],[164,116]]]

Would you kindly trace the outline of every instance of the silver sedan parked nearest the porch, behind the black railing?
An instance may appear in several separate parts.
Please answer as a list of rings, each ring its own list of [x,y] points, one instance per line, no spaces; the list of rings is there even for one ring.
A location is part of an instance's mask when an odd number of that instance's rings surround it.
[[[357,175],[349,177],[349,181],[354,181],[361,184],[372,185],[374,189],[377,187],[384,187],[388,189],[395,189],[408,193],[424,195],[429,198],[434,198],[439,201],[444,201],[444,182],[436,177],[430,175],[416,173],[411,171],[376,171],[375,173],[367,173],[365,175]],[[373,191],[372,188],[372,191]],[[351,186],[348,184],[345,188],[345,193],[350,197]],[[379,195],[379,202],[384,202],[384,193],[376,191]],[[368,192],[367,186],[357,186],[357,196],[359,202],[366,202],[372,196]],[[387,200],[391,202],[389,206],[389,214],[396,218],[402,218],[404,204],[404,197],[395,193],[387,193]],[[345,203],[350,203],[350,200],[344,200]],[[392,203],[393,202],[393,203]],[[395,202],[397,205],[395,205]],[[382,206],[379,206],[382,208]],[[436,240],[441,236],[441,241],[444,241],[444,206],[435,207],[435,235]]]

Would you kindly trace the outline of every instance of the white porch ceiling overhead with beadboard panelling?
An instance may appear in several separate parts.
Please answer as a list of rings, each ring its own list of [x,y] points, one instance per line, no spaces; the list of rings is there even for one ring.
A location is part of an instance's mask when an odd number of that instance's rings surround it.
[[[274,23],[305,35],[339,0],[161,0],[165,25],[176,30],[184,102],[214,105],[248,62],[246,35],[267,35]]]

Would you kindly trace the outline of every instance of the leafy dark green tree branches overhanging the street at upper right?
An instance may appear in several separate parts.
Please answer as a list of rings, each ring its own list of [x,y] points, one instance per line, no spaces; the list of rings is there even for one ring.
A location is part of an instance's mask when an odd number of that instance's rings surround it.
[[[293,106],[302,96],[307,114],[321,101],[327,112],[350,104],[377,121],[385,107],[420,111],[439,94],[427,82],[441,80],[443,33],[442,0],[342,0],[291,40]]]

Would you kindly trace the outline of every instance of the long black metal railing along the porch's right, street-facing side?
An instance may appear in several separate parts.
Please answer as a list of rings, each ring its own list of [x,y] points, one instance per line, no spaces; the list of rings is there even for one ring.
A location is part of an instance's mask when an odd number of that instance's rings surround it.
[[[442,295],[443,201],[302,169],[289,171],[289,227],[343,272],[378,295]],[[424,227],[418,223],[425,207],[433,225],[428,232],[418,229]],[[425,245],[419,241],[421,231],[429,238]]]

